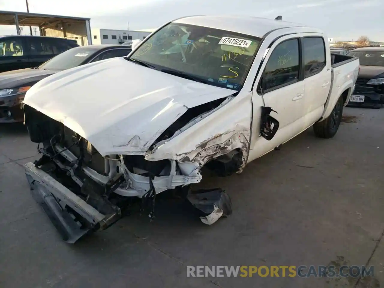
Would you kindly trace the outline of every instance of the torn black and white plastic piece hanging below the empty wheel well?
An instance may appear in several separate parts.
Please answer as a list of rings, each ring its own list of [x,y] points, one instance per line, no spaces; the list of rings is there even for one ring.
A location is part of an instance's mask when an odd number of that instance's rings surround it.
[[[220,188],[191,191],[187,195],[189,202],[199,209],[205,216],[200,217],[201,222],[212,225],[220,217],[232,214],[232,202],[228,194]]]

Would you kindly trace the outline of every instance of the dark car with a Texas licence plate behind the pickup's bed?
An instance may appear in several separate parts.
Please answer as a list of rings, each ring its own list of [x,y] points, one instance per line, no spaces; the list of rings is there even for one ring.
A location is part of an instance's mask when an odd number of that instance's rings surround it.
[[[348,55],[359,57],[361,65],[348,106],[381,108],[384,104],[384,47],[357,48]]]

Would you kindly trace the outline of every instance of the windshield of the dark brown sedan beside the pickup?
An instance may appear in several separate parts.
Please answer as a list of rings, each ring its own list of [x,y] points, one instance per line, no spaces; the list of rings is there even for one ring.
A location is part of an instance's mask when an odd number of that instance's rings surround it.
[[[45,69],[45,70],[70,69],[82,64],[84,60],[87,60],[96,51],[98,51],[97,48],[75,47],[51,58],[50,60],[41,64],[38,67],[38,69]]]

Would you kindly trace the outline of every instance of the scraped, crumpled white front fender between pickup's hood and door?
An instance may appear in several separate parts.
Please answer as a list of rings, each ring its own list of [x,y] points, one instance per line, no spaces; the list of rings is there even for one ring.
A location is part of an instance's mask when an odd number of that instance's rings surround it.
[[[197,162],[201,167],[211,159],[240,149],[243,168],[250,146],[252,96],[250,93],[239,96],[228,98],[221,107],[200,116],[197,122],[183,127],[170,139],[159,142],[145,159]]]

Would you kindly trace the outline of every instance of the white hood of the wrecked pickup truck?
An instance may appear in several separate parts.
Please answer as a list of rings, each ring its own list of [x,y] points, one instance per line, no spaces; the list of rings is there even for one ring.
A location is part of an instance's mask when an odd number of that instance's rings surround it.
[[[188,108],[235,92],[112,58],[41,80],[23,103],[83,136],[102,156],[144,155]]]

